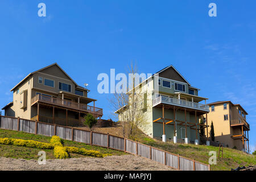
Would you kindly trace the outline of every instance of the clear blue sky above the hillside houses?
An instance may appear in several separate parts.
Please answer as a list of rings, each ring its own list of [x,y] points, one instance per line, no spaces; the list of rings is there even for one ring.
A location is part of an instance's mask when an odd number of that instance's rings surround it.
[[[47,16],[38,16],[46,3]],[[208,5],[217,4],[217,17]],[[0,105],[28,73],[57,62],[113,118],[97,76],[126,73],[131,61],[155,73],[174,65],[209,102],[241,104],[256,144],[255,1],[0,2]]]

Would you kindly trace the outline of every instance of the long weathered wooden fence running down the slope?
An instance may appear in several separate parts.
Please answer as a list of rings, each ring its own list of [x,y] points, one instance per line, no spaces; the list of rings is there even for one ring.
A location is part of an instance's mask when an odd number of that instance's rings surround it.
[[[155,160],[168,167],[181,171],[210,171],[210,165],[184,158],[170,152],[147,146],[127,138],[117,137],[94,131],[86,131],[74,127],[53,125],[28,119],[0,116],[1,129],[23,131],[52,137],[57,135],[65,140],[91,144],[111,148],[113,150],[139,155],[147,159]]]

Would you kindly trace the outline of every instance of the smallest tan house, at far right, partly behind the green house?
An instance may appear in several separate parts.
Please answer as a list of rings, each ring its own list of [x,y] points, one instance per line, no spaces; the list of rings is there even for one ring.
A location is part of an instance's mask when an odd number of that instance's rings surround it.
[[[210,106],[208,123],[213,122],[215,141],[231,148],[249,152],[250,125],[246,122],[247,112],[240,104],[218,101]]]

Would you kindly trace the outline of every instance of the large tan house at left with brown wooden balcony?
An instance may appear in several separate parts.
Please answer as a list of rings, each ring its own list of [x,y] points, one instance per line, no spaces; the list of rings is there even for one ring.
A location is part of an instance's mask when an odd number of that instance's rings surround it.
[[[88,113],[102,117],[96,100],[88,97],[90,90],[77,85],[57,63],[28,74],[10,91],[13,102],[2,109],[6,116],[67,126],[80,125]]]

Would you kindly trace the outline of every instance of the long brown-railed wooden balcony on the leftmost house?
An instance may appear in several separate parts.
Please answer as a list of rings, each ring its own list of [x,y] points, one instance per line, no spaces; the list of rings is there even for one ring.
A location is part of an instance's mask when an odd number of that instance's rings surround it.
[[[44,96],[44,95],[38,94],[31,99],[31,106],[37,102],[43,102],[43,103],[51,104],[51,105],[55,105],[55,106],[84,111],[86,113],[92,113],[92,114],[95,113],[96,115],[100,115],[100,116],[103,115],[101,108],[88,106],[86,104],[80,104],[80,103],[72,102],[72,101],[65,100],[65,99],[61,100],[56,97],[49,97],[49,96]]]

